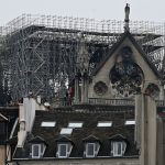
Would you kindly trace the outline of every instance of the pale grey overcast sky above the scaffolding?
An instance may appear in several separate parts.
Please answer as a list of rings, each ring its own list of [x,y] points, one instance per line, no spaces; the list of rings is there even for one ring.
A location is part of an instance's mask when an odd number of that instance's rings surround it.
[[[123,8],[127,2],[131,6],[132,21],[165,22],[165,0],[0,0],[0,25],[22,13],[123,20]]]

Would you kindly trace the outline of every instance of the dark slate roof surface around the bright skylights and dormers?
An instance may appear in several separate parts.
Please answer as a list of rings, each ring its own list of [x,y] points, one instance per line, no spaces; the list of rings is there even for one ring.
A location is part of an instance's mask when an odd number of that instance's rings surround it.
[[[99,108],[99,111],[95,109]],[[101,111],[101,106],[86,106],[85,111],[76,111],[73,109],[55,109],[52,111],[36,111],[35,121],[32,130],[34,136],[44,139],[47,143],[47,147],[44,157],[56,158],[57,141],[59,138],[64,138],[59,134],[63,128],[67,128],[70,121],[84,122],[82,128],[73,129],[70,135],[66,135],[65,140],[70,140],[74,143],[70,157],[84,157],[85,142],[88,136],[96,136],[100,142],[100,151],[98,156],[110,156],[110,138],[117,134],[124,136],[129,145],[127,147],[125,156],[138,156],[139,152],[134,144],[134,125],[124,125],[125,120],[134,119],[134,108],[120,107],[120,110],[116,111],[112,107],[106,107]],[[56,125],[53,128],[41,127],[43,121],[55,121]],[[112,121],[112,127],[98,128],[98,121]],[[22,152],[23,150],[23,152]],[[26,141],[23,148],[18,148],[14,158],[24,157],[28,158],[30,154],[30,143]],[[43,158],[44,158],[43,157]]]

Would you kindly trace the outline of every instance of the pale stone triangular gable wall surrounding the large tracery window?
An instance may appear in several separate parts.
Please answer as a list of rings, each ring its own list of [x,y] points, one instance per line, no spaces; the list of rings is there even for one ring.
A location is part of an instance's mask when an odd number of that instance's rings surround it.
[[[92,82],[89,85],[89,90],[88,90],[88,97],[89,98],[102,98],[102,99],[114,99],[113,91],[110,85],[110,70],[114,66],[114,64],[121,61],[120,54],[121,50],[124,46],[130,46],[133,54],[132,58],[134,62],[141,67],[144,74],[144,80],[143,80],[143,88],[146,88],[148,84],[156,84],[160,88],[160,80],[157,75],[153,72],[153,69],[148,66],[144,57],[142,57],[141,53],[138,51],[138,48],[133,45],[133,43],[125,37],[124,41],[118,46],[114,52],[110,55],[109,58],[107,58],[106,63],[97,72],[97,74],[92,77]],[[94,91],[94,87],[96,82],[102,81],[107,85],[108,90],[105,95],[100,96],[97,95]],[[124,98],[125,99],[125,98]]]

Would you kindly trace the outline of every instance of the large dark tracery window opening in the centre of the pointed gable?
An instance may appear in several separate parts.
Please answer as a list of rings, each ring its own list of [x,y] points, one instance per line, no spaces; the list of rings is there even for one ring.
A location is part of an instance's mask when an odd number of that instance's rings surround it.
[[[128,98],[141,91],[143,84],[143,72],[138,64],[133,62],[132,50],[128,46],[121,50],[121,62],[117,62],[110,70],[110,81],[112,90]]]

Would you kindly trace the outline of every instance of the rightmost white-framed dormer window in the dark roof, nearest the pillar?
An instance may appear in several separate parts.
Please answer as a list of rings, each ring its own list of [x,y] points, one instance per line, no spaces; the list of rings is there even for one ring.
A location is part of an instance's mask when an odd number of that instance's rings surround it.
[[[112,156],[123,156],[125,152],[125,142],[111,142]]]

